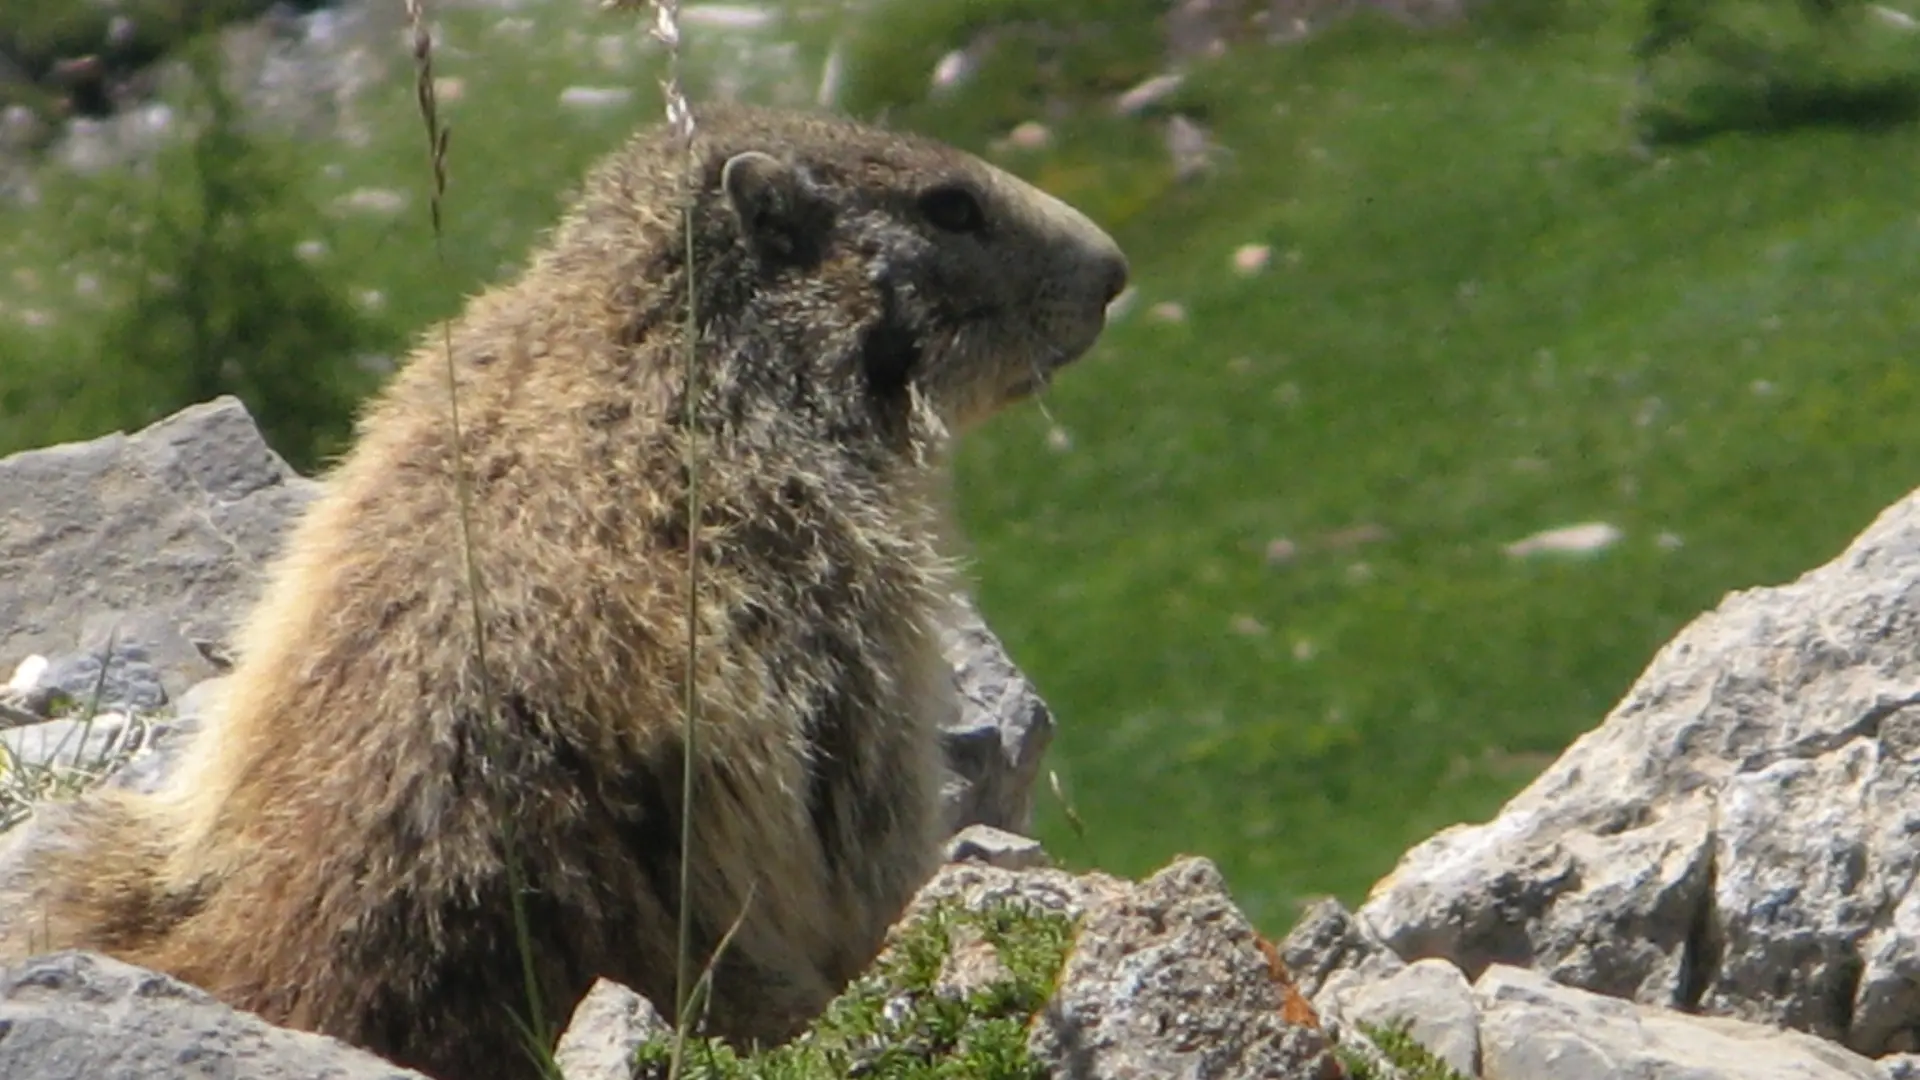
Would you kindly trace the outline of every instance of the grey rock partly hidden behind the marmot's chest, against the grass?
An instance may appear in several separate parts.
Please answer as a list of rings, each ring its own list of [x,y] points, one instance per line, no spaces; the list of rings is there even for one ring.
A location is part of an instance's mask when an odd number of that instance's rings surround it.
[[[954,773],[947,788],[948,832],[970,824],[1027,832],[1054,715],[964,596],[954,598],[943,634],[960,690],[960,709],[945,736]]]

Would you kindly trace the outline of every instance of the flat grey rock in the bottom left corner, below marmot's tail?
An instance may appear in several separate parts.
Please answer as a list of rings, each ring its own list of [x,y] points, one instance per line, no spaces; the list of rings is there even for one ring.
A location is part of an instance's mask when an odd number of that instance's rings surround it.
[[[163,974],[94,953],[0,969],[8,1080],[426,1080],[330,1038],[275,1028]]]

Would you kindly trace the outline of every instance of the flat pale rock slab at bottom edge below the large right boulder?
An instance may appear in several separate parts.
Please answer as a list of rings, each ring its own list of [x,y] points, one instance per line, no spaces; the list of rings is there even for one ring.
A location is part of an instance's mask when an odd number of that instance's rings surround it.
[[[1803,1032],[1634,1005],[1505,965],[1473,994],[1486,1080],[1885,1080]]]

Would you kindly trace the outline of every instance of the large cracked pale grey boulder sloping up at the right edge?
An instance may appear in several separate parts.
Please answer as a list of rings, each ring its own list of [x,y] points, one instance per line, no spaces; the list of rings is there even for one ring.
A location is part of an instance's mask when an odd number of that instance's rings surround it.
[[[1832,563],[1693,621],[1492,822],[1409,851],[1359,922],[1471,978],[1530,967],[1908,1051],[1916,763],[1920,492]]]

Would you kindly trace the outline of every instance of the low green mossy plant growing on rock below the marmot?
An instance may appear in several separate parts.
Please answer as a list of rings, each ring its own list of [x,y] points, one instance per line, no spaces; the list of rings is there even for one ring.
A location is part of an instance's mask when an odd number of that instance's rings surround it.
[[[933,992],[952,934],[989,942],[1006,978],[952,997]],[[854,982],[799,1040],[739,1055],[718,1040],[689,1040],[685,1080],[1043,1080],[1027,1055],[1027,1022],[1052,995],[1071,945],[1071,922],[1016,905],[937,907],[910,926],[874,972]],[[891,1015],[889,1015],[891,1005]],[[664,1080],[672,1038],[639,1051],[643,1080]]]

